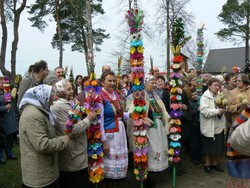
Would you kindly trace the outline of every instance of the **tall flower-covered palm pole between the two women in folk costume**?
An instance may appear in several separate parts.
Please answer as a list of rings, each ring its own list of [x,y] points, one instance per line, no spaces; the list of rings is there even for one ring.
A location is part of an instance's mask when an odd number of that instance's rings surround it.
[[[136,180],[143,187],[143,181],[148,175],[148,141],[147,125],[145,124],[145,92],[144,92],[144,57],[142,42],[142,24],[144,13],[137,6],[137,1],[133,1],[133,8],[127,11],[127,21],[130,27],[130,68],[133,77],[132,91],[134,95],[133,126],[134,126],[134,174]]]

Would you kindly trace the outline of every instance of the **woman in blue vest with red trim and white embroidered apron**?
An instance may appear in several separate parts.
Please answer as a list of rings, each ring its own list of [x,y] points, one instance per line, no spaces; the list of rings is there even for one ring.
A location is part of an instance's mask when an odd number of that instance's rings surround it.
[[[122,179],[126,177],[128,167],[127,138],[122,120],[128,119],[129,113],[123,112],[119,96],[114,91],[114,72],[104,72],[100,81],[100,96],[103,102],[101,124],[104,126],[106,137],[103,144],[104,176],[108,179]]]

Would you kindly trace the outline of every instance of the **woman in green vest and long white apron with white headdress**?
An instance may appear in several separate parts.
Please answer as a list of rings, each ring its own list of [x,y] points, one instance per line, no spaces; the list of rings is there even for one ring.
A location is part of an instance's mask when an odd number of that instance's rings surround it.
[[[146,124],[149,125],[147,132],[149,150],[148,150],[148,171],[160,172],[168,168],[168,139],[169,133],[169,121],[168,113],[164,106],[164,103],[160,97],[154,92],[156,88],[156,78],[152,75],[147,75],[144,79],[145,84],[145,98],[146,98]],[[133,95],[128,97],[128,100],[133,101]],[[134,105],[132,102],[128,102],[130,105],[129,112],[133,112]],[[128,125],[129,126],[129,125]],[[130,124],[131,126],[131,124]],[[130,131],[129,137],[133,134]],[[131,137],[130,137],[131,138]],[[133,137],[132,137],[133,138]],[[130,147],[133,146],[133,140],[130,141]],[[132,148],[130,148],[131,151]]]

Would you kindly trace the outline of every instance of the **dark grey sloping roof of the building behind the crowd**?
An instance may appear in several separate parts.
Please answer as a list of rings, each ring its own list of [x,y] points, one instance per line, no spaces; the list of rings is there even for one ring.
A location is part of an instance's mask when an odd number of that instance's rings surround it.
[[[208,54],[203,72],[220,73],[222,69],[224,72],[233,72],[233,67],[243,69],[244,65],[245,47],[213,49]]]

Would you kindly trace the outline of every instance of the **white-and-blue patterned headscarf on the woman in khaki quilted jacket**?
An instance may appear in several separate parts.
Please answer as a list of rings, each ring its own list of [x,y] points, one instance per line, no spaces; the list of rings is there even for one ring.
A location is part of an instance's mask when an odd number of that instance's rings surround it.
[[[21,109],[26,104],[32,104],[43,108],[49,114],[49,121],[52,125],[55,124],[55,115],[50,111],[50,97],[52,93],[52,86],[49,85],[39,85],[30,88],[23,95],[23,99],[19,105]]]

